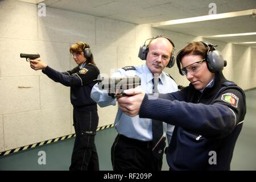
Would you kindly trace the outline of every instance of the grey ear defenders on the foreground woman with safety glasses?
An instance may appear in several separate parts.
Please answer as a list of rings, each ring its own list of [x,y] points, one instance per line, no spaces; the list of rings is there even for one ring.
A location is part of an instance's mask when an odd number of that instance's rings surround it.
[[[203,43],[206,48],[208,48],[206,59],[209,71],[213,73],[222,71],[222,69],[226,67],[226,61],[223,59],[221,52],[215,49],[217,45],[204,41],[200,42]]]

